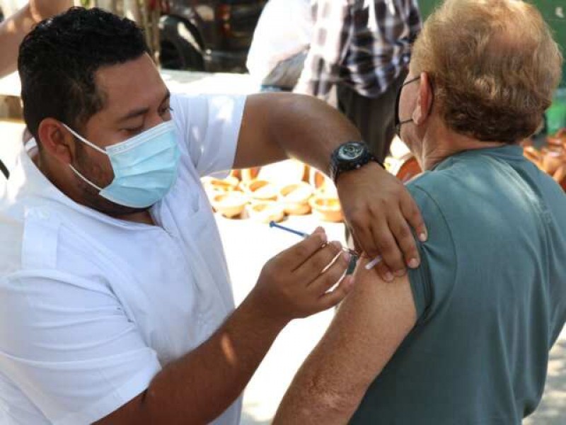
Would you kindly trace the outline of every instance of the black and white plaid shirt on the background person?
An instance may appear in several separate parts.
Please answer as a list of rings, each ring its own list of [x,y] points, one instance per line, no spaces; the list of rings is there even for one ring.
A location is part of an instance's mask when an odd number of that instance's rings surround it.
[[[377,97],[407,68],[421,28],[417,0],[318,0],[297,93],[327,98],[333,84]]]

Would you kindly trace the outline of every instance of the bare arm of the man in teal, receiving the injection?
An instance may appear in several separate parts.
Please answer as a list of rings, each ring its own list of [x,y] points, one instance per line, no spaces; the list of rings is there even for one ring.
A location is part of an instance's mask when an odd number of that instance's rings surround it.
[[[352,293],[297,373],[275,423],[347,422],[416,320],[408,276],[387,283],[358,266]]]

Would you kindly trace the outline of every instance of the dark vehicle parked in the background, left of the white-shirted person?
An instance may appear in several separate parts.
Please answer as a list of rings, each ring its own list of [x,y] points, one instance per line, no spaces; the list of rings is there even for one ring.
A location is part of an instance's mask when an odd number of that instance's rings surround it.
[[[168,0],[159,23],[168,69],[246,72],[253,31],[267,0]]]

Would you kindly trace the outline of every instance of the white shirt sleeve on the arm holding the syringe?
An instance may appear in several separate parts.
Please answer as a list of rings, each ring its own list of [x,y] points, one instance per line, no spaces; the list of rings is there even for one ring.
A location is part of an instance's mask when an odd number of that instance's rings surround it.
[[[107,285],[56,271],[0,280],[0,363],[53,424],[90,424],[161,370]]]

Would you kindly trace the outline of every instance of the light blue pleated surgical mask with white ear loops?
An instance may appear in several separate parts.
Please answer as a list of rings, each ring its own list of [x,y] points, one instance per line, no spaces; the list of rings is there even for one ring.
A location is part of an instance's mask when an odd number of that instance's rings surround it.
[[[129,208],[148,208],[161,200],[177,179],[179,147],[173,121],[150,128],[137,136],[102,149],[63,124],[75,137],[98,152],[108,155],[114,180],[100,188],[74,166],[77,176],[96,188],[98,194]]]

